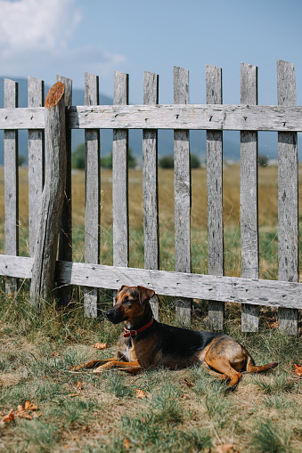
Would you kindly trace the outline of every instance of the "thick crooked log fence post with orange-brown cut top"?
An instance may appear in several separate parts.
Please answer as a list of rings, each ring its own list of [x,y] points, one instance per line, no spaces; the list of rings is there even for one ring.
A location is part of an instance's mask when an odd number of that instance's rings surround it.
[[[57,82],[45,99],[45,187],[32,269],[30,300],[52,295],[58,235],[66,183],[65,85]]]

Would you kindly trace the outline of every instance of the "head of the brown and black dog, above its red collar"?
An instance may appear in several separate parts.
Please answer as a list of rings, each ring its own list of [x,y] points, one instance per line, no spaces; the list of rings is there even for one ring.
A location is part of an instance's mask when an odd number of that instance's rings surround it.
[[[154,294],[153,289],[147,287],[124,285],[118,289],[116,303],[107,311],[106,316],[113,324],[126,320],[130,324],[136,323],[151,309],[149,301]]]

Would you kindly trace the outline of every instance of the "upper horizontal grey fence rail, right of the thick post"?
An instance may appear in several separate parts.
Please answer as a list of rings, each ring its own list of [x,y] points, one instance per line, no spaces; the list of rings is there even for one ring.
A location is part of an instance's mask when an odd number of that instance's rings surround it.
[[[302,107],[263,105],[128,105],[71,107],[69,127],[301,131]],[[1,122],[0,122],[1,125]]]

